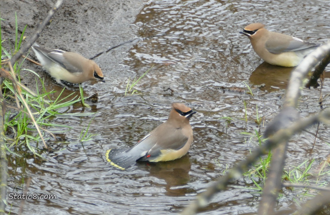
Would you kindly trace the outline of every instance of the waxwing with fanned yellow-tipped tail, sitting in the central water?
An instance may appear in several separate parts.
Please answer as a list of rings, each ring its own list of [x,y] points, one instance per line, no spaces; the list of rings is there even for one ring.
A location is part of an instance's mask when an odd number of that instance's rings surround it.
[[[190,117],[196,113],[181,103],[172,104],[170,116],[160,126],[129,149],[110,149],[106,153],[110,165],[126,169],[136,161],[172,161],[185,155],[192,143]]]

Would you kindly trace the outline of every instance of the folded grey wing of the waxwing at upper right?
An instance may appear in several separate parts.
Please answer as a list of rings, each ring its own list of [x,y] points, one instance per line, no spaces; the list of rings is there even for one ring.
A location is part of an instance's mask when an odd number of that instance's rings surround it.
[[[274,37],[274,40],[267,41],[265,44],[266,49],[273,54],[281,54],[283,52],[288,52],[288,51],[299,51],[314,46],[319,46],[319,44],[309,43],[301,39],[290,37],[287,35],[283,35],[283,36],[277,35],[277,36],[278,37]],[[287,42],[283,43],[283,41],[287,41]]]

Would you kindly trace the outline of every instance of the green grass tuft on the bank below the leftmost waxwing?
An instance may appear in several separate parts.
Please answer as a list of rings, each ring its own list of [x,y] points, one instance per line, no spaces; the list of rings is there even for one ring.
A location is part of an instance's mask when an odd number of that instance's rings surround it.
[[[16,14],[15,17],[15,49],[11,51],[12,54],[15,54],[20,49],[26,29],[25,26],[22,34],[20,36],[18,35]],[[66,113],[66,111],[70,109],[69,107],[75,103],[81,103],[82,107],[86,107],[87,104],[84,103],[82,87],[80,87],[81,96],[79,98],[77,98],[78,96],[75,96],[75,93],[63,97],[63,92],[65,90],[65,88],[63,88],[61,93],[55,99],[51,99],[50,95],[55,93],[55,91],[47,92],[44,80],[42,80],[37,73],[32,70],[21,68],[25,58],[21,62],[15,62],[13,66],[8,63],[12,54],[3,47],[4,41],[2,40],[1,34],[1,20],[3,19],[0,19],[0,55],[1,59],[4,60],[1,60],[0,68],[1,66],[4,67],[3,64],[7,64],[9,68],[9,71],[2,69],[2,77],[4,80],[1,84],[2,94],[7,104],[3,128],[7,142],[6,148],[16,156],[20,156],[19,154],[21,152],[15,153],[13,150],[14,147],[25,150],[27,149],[34,156],[41,157],[44,148],[47,148],[46,140],[55,138],[55,136],[47,129],[51,127],[70,128],[67,125],[54,124],[52,122],[54,117],[82,117],[93,113]],[[36,75],[39,78],[42,86],[40,88],[38,86],[38,81],[36,80],[36,88],[34,89],[36,92],[28,89],[20,82],[20,72],[23,70],[32,75]],[[83,138],[85,138],[85,136]],[[39,145],[40,142],[44,143],[44,147]]]

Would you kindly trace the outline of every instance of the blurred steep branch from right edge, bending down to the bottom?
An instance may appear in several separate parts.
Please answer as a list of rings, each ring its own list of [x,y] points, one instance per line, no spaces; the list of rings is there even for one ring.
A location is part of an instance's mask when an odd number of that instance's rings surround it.
[[[308,55],[302,63],[292,71],[286,91],[283,109],[267,126],[264,134],[266,137],[279,129],[284,129],[288,124],[298,118],[298,112],[295,107],[298,105],[300,88],[303,84],[303,79],[306,77],[307,73],[313,69],[318,62],[326,58],[329,53],[330,43],[320,46]],[[286,147],[287,142],[282,142],[276,149],[273,150],[272,161],[270,164],[268,177],[264,184],[258,215],[274,214],[277,197],[279,195],[279,191],[281,190],[281,176],[284,169]]]

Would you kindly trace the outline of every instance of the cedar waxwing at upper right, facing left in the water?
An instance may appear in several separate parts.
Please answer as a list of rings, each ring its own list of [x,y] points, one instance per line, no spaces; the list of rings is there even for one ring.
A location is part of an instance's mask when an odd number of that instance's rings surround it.
[[[255,53],[261,59],[278,66],[297,66],[306,55],[319,46],[319,44],[309,43],[285,34],[268,31],[261,23],[249,24],[240,33],[248,36]]]

